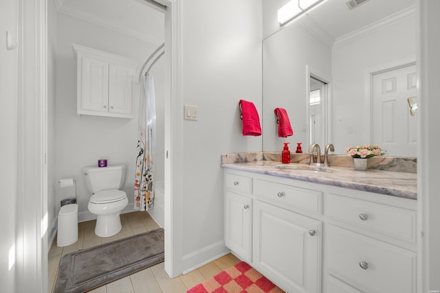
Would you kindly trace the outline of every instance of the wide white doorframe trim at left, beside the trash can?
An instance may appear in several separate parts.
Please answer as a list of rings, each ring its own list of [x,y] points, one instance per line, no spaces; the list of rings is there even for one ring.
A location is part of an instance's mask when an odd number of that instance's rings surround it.
[[[47,292],[47,0],[19,1],[17,292]]]

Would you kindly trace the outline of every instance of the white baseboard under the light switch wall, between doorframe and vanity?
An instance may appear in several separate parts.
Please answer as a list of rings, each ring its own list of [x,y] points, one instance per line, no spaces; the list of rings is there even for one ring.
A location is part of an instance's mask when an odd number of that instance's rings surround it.
[[[184,255],[182,258],[183,267],[186,268],[182,274],[188,274],[188,272],[197,270],[197,268],[206,265],[206,263],[219,259],[228,253],[230,253],[230,250],[226,248],[224,241],[219,241],[193,253],[188,253],[188,255]]]

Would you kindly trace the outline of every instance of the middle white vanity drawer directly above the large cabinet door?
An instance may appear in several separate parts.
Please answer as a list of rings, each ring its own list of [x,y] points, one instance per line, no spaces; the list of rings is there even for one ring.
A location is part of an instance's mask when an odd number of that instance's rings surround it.
[[[280,207],[291,207],[312,213],[321,213],[322,192],[256,179],[257,196]]]

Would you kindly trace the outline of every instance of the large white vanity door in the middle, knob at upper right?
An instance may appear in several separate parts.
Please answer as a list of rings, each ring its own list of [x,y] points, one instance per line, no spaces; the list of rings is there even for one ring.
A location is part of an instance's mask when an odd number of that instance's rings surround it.
[[[286,292],[320,292],[322,223],[254,201],[254,266]]]

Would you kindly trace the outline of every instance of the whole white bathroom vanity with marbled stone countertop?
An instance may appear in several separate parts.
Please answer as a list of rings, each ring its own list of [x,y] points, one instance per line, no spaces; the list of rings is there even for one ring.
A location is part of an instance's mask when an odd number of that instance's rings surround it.
[[[416,292],[417,174],[222,167],[225,245],[286,292]]]

